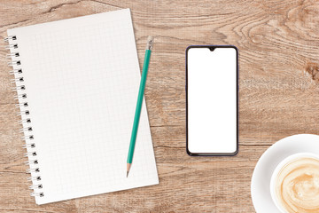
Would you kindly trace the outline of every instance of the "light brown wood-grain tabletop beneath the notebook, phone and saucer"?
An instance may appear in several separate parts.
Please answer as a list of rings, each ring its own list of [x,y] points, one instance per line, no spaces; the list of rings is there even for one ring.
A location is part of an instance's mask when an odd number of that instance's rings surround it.
[[[319,3],[263,0],[0,0],[0,212],[254,212],[253,168],[278,139],[319,131]],[[29,196],[8,28],[130,8],[142,66],[156,36],[145,98],[159,185],[37,206]],[[185,48],[239,49],[239,154],[185,152]]]

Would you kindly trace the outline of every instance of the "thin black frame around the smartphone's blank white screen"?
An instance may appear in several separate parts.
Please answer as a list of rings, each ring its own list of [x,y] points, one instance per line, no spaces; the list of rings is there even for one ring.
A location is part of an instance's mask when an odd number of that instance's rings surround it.
[[[188,51],[191,48],[211,48],[216,49],[216,48],[233,48],[236,51],[236,115],[237,115],[237,137],[236,137],[236,151],[234,153],[191,153],[189,148],[188,148]],[[236,46],[233,45],[191,45],[186,48],[185,51],[186,54],[186,83],[185,83],[185,91],[186,91],[186,152],[190,156],[234,156],[238,153],[239,150],[239,143],[238,143],[238,125],[239,125],[239,113],[238,113],[238,91],[239,91],[239,84],[238,84],[238,49]]]

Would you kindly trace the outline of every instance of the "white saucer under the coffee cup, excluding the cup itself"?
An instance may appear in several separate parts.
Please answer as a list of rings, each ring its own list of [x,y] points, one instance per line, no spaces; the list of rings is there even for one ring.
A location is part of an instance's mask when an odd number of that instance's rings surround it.
[[[297,153],[319,154],[319,136],[293,135],[277,141],[261,155],[253,170],[251,194],[257,213],[280,213],[270,195],[270,179],[278,163]]]

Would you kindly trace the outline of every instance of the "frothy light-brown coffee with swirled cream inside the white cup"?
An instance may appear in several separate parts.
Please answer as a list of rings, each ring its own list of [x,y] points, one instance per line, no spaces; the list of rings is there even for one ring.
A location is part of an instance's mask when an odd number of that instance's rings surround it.
[[[299,157],[287,162],[275,179],[276,200],[289,213],[319,212],[319,160]]]

